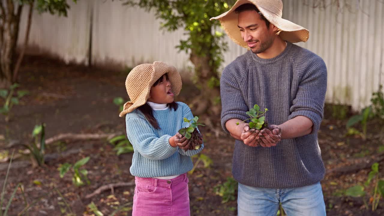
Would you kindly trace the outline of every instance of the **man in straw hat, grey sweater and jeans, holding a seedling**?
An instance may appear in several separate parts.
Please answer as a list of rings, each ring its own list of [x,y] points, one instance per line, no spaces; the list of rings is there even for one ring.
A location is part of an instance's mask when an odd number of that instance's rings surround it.
[[[305,28],[281,18],[281,0],[238,0],[220,20],[228,36],[249,51],[223,71],[222,127],[236,139],[232,174],[238,181],[238,215],[326,215],[320,181],[324,164],[317,140],[323,118],[324,61],[294,45]],[[270,126],[243,120],[257,104]],[[237,125],[237,123],[240,123]]]

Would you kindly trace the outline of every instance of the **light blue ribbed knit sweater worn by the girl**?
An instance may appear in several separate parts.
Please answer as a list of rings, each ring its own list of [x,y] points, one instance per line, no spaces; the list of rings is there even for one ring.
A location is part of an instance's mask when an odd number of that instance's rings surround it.
[[[153,111],[160,126],[159,130],[156,130],[139,110],[126,114],[127,137],[134,149],[132,166],[129,169],[133,176],[142,178],[173,176],[186,173],[193,168],[190,156],[199,153],[204,144],[199,150],[189,151],[169,145],[169,138],[189,125],[183,118],[193,118],[188,105],[182,102],[177,102],[177,105],[176,111],[173,109]]]

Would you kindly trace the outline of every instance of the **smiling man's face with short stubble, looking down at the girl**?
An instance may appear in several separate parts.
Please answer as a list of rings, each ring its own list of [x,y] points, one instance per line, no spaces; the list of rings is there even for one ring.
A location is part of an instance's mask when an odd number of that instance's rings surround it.
[[[270,48],[275,39],[273,25],[267,28],[261,15],[255,10],[246,10],[238,14],[238,27],[241,36],[252,52],[262,53]]]

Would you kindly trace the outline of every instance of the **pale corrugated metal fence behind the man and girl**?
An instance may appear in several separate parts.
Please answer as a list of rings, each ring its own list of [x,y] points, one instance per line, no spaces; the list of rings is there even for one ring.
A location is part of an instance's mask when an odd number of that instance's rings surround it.
[[[301,0],[283,3],[283,18],[310,30],[308,42],[298,45],[321,56],[327,65],[326,101],[352,105],[355,110],[369,105],[372,92],[377,91],[379,83],[384,84],[384,3],[361,1],[360,10],[342,13],[335,7],[313,9]],[[175,48],[185,37],[184,31],[159,30],[160,22],[153,12],[109,0],[81,0],[70,5],[67,18],[35,12],[30,35],[33,52],[50,53],[66,62],[86,65],[89,56],[91,64],[121,66],[160,60],[176,66],[185,75],[192,66],[189,56]],[[26,10],[19,44],[23,43],[25,23]],[[229,50],[224,54],[223,66],[246,51],[226,40]]]

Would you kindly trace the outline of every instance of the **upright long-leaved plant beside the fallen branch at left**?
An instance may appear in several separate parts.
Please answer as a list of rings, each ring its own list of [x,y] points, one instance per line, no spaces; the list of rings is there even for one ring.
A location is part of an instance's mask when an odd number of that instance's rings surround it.
[[[39,136],[40,135],[40,136]],[[30,145],[23,144],[25,148],[30,150],[32,164],[43,166],[45,155],[45,123],[41,125],[35,125],[32,131],[32,138]]]

